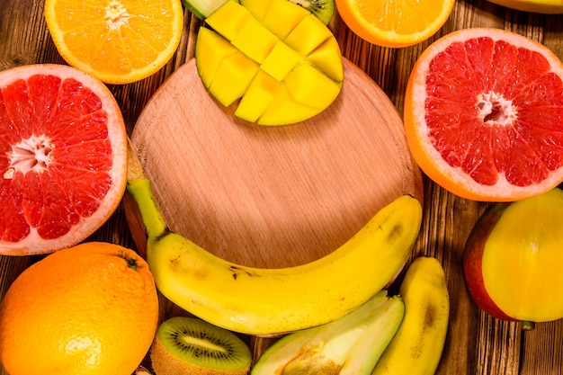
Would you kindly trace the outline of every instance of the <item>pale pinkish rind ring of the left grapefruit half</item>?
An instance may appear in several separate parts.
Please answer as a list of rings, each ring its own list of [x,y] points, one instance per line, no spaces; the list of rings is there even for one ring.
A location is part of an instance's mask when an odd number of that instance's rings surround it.
[[[65,247],[74,246],[80,241],[84,240],[86,237],[93,234],[96,229],[100,228],[103,223],[107,219],[109,219],[114,210],[117,209],[121,201],[121,197],[125,192],[127,174],[127,133],[121,115],[121,110],[119,108],[119,105],[115,102],[115,99],[113,98],[110,90],[94,76],[90,76],[74,67],[67,67],[56,64],[39,64],[14,67],[12,69],[0,72],[0,99],[3,98],[2,92],[6,89],[6,87],[13,85],[14,82],[25,82],[32,76],[56,76],[59,77],[62,81],[65,81],[67,79],[74,79],[80,82],[81,85],[86,89],[92,90],[94,94],[100,98],[103,103],[103,112],[105,112],[105,115],[107,116],[107,139],[109,140],[112,148],[112,165],[111,168],[106,171],[106,174],[108,176],[111,176],[112,183],[109,190],[99,201],[99,206],[97,207],[97,209],[93,209],[94,212],[88,217],[80,217],[76,224],[72,225],[67,233],[61,234],[58,237],[41,237],[38,228],[32,227],[29,223],[29,219],[26,219],[24,221],[24,224],[22,224],[22,221],[20,221],[18,226],[29,226],[29,234],[18,241],[6,240],[6,234],[15,229],[10,228],[10,223],[7,223],[5,221],[4,223],[0,223],[0,254],[46,254],[52,253]],[[83,103],[76,103],[76,105],[82,104]],[[0,107],[1,112],[4,108],[4,99],[2,99],[2,102],[0,102]],[[37,108],[33,109],[37,110]],[[71,111],[72,110],[68,110],[67,113],[72,115]],[[4,126],[10,125],[7,123],[7,121],[5,121],[4,124]],[[47,127],[48,126],[46,126],[46,128]],[[72,131],[67,130],[67,133],[68,132]],[[56,134],[53,135],[53,138],[56,137]],[[6,141],[5,137],[0,138],[0,142],[4,144],[3,148],[10,147],[10,144]],[[74,145],[74,147],[78,147],[79,149],[86,150],[85,152],[88,152],[87,142],[78,143]],[[92,149],[91,151],[95,155],[96,150]],[[64,167],[64,165],[62,166]],[[0,189],[2,189],[4,192],[5,189],[13,189],[13,186],[8,186],[6,184],[10,183],[10,181],[7,181],[8,179],[6,179],[6,177],[13,178],[13,175],[11,175],[12,172],[10,172],[12,169],[13,168],[10,167],[8,159],[4,158],[4,162],[2,162],[2,174],[4,176],[4,180],[3,185],[0,186]],[[76,181],[76,183],[84,182]],[[64,184],[72,185],[73,182],[65,181]],[[4,201],[2,202],[2,206],[4,208],[8,207],[8,205],[5,204]],[[22,208],[12,207],[12,209],[21,210]],[[71,213],[69,212],[68,215],[71,215]],[[4,219],[6,218],[10,219],[13,224],[13,222],[15,222],[16,220],[14,218],[22,219],[23,217],[22,214],[17,215],[17,212],[14,211],[9,212],[7,215],[4,214]]]

